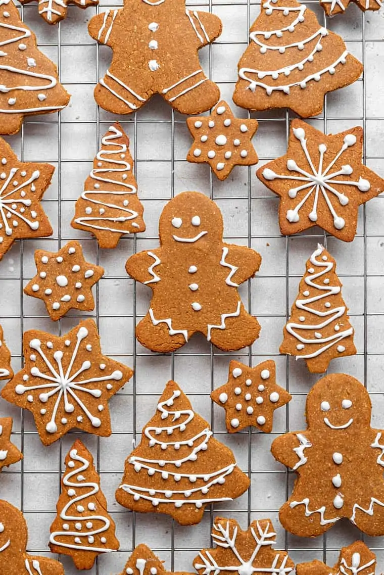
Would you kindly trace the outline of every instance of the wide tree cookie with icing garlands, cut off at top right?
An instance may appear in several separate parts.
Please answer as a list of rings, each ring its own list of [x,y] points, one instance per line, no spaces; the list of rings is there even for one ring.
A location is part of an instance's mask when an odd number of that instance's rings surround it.
[[[355,82],[363,66],[340,36],[296,0],[262,2],[239,62],[233,101],[249,110],[290,108],[320,114],[327,92]]]

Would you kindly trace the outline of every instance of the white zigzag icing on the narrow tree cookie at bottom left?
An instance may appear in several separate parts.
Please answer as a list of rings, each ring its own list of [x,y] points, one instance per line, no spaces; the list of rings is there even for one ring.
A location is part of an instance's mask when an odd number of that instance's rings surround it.
[[[89,461],[81,455],[78,454],[76,449],[72,449],[70,452],[71,459],[74,461],[80,462],[80,467],[74,467],[72,470],[68,471],[63,477],[63,484],[66,485],[68,488],[68,495],[71,497],[70,501],[66,505],[64,505],[62,511],[60,511],[60,519],[64,522],[67,521],[75,521],[80,523],[80,529],[76,531],[70,530],[63,530],[63,531],[53,531],[51,536],[49,537],[49,542],[53,545],[57,545],[59,547],[68,547],[69,549],[78,549],[80,551],[93,551],[94,553],[106,553],[109,551],[113,551],[113,549],[108,549],[107,547],[94,547],[92,545],[82,545],[81,538],[86,538],[86,540],[90,542],[94,542],[94,535],[99,535],[101,533],[106,532],[110,526],[110,520],[108,517],[104,517],[102,515],[71,515],[71,507],[75,507],[79,512],[79,502],[85,501],[89,497],[95,496],[100,488],[97,483],[92,481],[85,481],[85,478],[81,476],[81,474],[89,468]],[[72,461],[72,463],[74,463]],[[72,478],[76,476],[76,481]],[[80,495],[76,495],[76,490],[82,488],[89,488],[85,493],[81,493]],[[70,493],[73,493],[70,495]],[[83,509],[82,513],[85,512],[85,507],[80,505],[80,509]],[[89,509],[89,508],[88,508]],[[73,513],[73,511],[72,511]],[[101,521],[103,525],[98,529],[93,529],[93,521]],[[91,527],[86,525],[87,531],[82,531],[81,523],[90,522]],[[79,540],[78,545],[74,543],[63,543],[62,541],[58,540],[58,537],[74,537]]]

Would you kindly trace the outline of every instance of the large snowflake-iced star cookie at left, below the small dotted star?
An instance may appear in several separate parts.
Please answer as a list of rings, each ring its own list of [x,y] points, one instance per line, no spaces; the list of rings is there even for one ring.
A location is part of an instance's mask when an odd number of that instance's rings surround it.
[[[102,355],[93,320],[81,321],[63,337],[24,332],[24,368],[1,396],[32,412],[44,445],[76,427],[94,435],[112,433],[108,401],[133,371]]]

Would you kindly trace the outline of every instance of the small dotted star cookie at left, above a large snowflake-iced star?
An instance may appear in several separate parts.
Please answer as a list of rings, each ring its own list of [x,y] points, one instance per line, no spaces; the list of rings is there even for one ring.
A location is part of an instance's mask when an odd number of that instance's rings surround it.
[[[34,262],[37,274],[24,287],[24,293],[43,300],[53,321],[63,317],[68,309],[94,309],[91,289],[104,270],[86,262],[78,241],[68,241],[58,252],[36,250]]]

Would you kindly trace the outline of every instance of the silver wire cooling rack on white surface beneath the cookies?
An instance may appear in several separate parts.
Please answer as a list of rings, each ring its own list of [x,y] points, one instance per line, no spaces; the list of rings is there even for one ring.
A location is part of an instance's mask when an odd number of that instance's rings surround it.
[[[324,26],[344,37],[347,48],[362,60],[365,70],[358,82],[330,94],[324,113],[311,123],[325,132],[362,125],[364,162],[384,175],[384,11],[364,16],[351,5],[344,16],[326,20],[317,1],[306,3],[316,11]],[[259,13],[259,2],[208,0],[198,5],[187,4],[212,11],[223,21],[221,37],[202,49],[200,57],[203,68],[220,86],[222,97],[231,102],[237,61],[247,45],[249,25]],[[290,492],[293,474],[274,461],[270,444],[277,434],[305,428],[305,396],[317,379],[309,374],[304,363],[280,356],[278,349],[305,261],[321,241],[337,260],[337,272],[344,284],[344,299],[350,307],[358,347],[356,356],[333,360],[330,371],[345,371],[364,382],[373,399],[373,425],[383,428],[382,198],[375,198],[362,207],[358,235],[351,244],[327,238],[318,228],[300,236],[282,237],[278,227],[278,199],[256,179],[255,168],[237,167],[225,182],[219,182],[208,166],[187,163],[191,139],[185,118],[172,112],[160,97],[153,98],[131,116],[117,118],[99,110],[93,99],[93,88],[109,64],[112,52],[90,39],[87,22],[96,11],[105,11],[111,6],[117,5],[102,1],[98,7],[85,11],[71,6],[67,19],[58,26],[48,26],[38,16],[36,3],[21,8],[23,20],[36,32],[41,50],[57,62],[61,81],[72,99],[60,116],[30,117],[18,135],[7,138],[21,159],[56,166],[52,186],[43,202],[54,235],[43,240],[16,241],[3,258],[0,323],[13,354],[13,369],[17,371],[22,361],[22,333],[26,329],[65,333],[84,317],[69,313],[53,323],[43,302],[22,293],[22,287],[35,273],[33,252],[36,248],[54,251],[69,239],[81,238],[86,257],[105,267],[105,277],[95,289],[97,308],[90,314],[97,321],[103,352],[132,366],[135,376],[110,401],[113,428],[110,438],[70,433],[52,446],[44,447],[30,413],[0,400],[0,414],[13,417],[13,440],[24,451],[24,460],[2,473],[0,497],[24,511],[29,526],[28,550],[48,554],[49,526],[55,516],[63,459],[75,437],[81,435],[94,454],[121,543],[117,553],[98,557],[89,572],[91,575],[120,573],[128,554],[140,542],[151,546],[168,569],[191,572],[192,559],[202,547],[210,546],[210,528],[217,515],[235,517],[243,528],[253,519],[270,517],[278,534],[277,547],[288,549],[294,561],[318,558],[333,565],[341,546],[362,537],[350,523],[341,521],[326,536],[316,539],[291,536],[278,523],[278,509]],[[234,105],[233,110],[236,110]],[[240,109],[236,113],[243,117],[247,114]],[[284,154],[289,114],[274,110],[252,114],[252,117],[259,120],[254,143],[260,165]],[[130,137],[147,231],[138,237],[124,237],[115,250],[108,251],[98,250],[95,239],[72,229],[70,221],[74,201],[83,190],[100,137],[116,119],[122,122]],[[135,340],[134,326],[148,308],[150,290],[135,286],[126,276],[125,260],[135,251],[156,247],[160,212],[174,194],[184,190],[209,194],[222,210],[225,240],[251,246],[263,257],[257,277],[240,290],[249,311],[258,317],[262,332],[252,348],[236,354],[224,354],[199,336],[194,336],[175,354],[164,356],[151,354]],[[277,381],[289,389],[293,400],[275,412],[272,434],[255,430],[235,435],[225,432],[224,412],[213,406],[209,394],[226,381],[230,358],[239,358],[249,365],[275,359]],[[140,440],[141,428],[153,415],[158,397],[170,378],[178,381],[195,410],[210,421],[216,437],[233,449],[241,469],[251,477],[247,493],[231,503],[218,504],[214,511],[208,507],[202,522],[194,527],[180,527],[167,516],[132,513],[114,500],[132,440]],[[384,538],[365,540],[376,551],[379,569],[383,569]],[[61,560],[67,575],[77,573],[70,558],[62,556]]]

